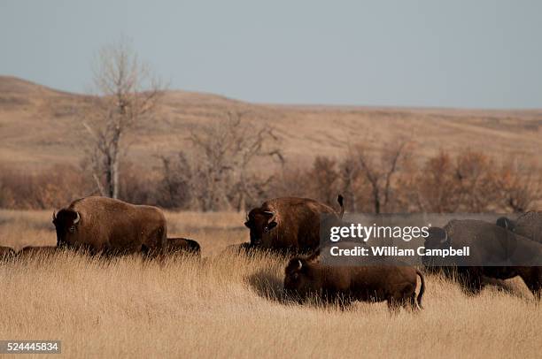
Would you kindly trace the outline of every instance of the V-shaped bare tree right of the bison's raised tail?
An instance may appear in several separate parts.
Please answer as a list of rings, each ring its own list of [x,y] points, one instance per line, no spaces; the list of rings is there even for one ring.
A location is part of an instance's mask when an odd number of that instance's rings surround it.
[[[392,179],[406,157],[406,145],[405,140],[396,139],[383,149],[380,157],[371,156],[368,148],[363,144],[353,149],[353,156],[358,160],[360,172],[371,187],[375,213],[381,213],[391,202]]]

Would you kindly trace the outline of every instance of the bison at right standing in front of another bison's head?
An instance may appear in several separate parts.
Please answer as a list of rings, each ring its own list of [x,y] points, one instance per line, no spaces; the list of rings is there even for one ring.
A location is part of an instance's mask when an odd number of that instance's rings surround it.
[[[504,223],[503,220],[500,223]],[[483,288],[484,277],[511,279],[515,276],[523,279],[536,298],[542,294],[542,267],[536,265],[542,262],[542,246],[500,225],[474,219],[453,219],[444,228],[433,227],[425,247],[470,248],[469,258],[446,261],[443,267],[448,274],[453,269],[457,271],[461,286],[469,294],[476,294]],[[427,259],[424,264],[428,267],[438,265]]]

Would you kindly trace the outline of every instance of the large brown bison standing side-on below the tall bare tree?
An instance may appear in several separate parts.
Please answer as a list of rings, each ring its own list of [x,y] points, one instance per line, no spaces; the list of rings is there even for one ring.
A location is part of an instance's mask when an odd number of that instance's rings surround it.
[[[85,197],[53,213],[58,247],[91,254],[158,255],[166,244],[166,218],[156,207],[106,197]]]

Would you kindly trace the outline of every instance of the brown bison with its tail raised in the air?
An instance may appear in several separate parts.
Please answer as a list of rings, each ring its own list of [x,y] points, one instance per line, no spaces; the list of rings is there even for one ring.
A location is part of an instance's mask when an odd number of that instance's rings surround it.
[[[250,229],[251,246],[283,252],[313,251],[320,245],[322,219],[343,218],[342,195],[338,196],[337,202],[340,213],[307,198],[283,197],[264,202],[259,208],[252,209],[244,222]]]

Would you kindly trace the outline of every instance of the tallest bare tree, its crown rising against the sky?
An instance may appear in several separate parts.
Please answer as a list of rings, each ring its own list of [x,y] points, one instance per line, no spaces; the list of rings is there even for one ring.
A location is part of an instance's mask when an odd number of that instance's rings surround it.
[[[98,95],[83,120],[90,134],[90,170],[100,193],[118,198],[125,136],[151,117],[162,88],[126,40],[100,50],[94,84]]]

